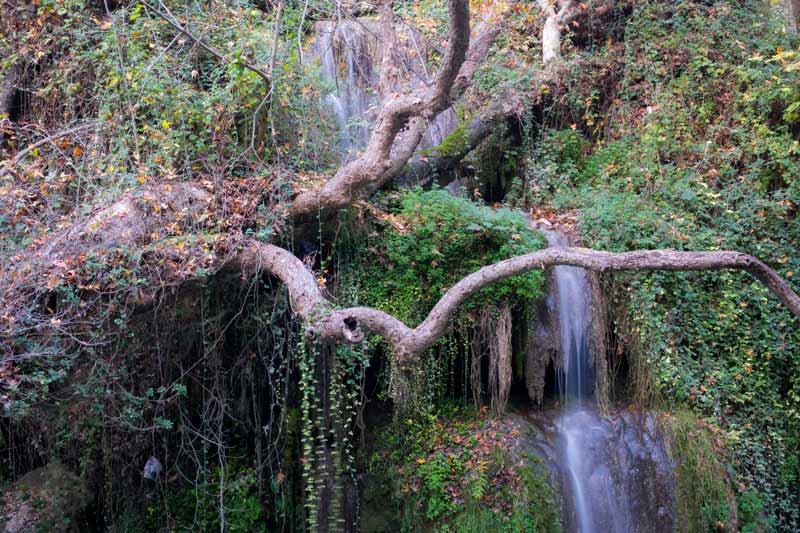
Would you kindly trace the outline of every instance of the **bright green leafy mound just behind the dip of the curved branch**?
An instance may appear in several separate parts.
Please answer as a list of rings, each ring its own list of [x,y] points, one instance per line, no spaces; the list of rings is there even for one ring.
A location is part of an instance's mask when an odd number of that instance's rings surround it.
[[[521,214],[440,189],[404,191],[392,211],[404,228],[386,226],[380,240],[369,243],[358,285],[366,303],[407,323],[424,317],[465,275],[544,246]],[[481,290],[467,305],[533,299],[541,295],[542,285],[542,272],[521,274]]]

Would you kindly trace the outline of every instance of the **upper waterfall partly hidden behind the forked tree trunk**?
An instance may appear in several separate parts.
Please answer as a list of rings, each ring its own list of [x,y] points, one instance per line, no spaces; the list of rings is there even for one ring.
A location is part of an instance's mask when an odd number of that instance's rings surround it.
[[[383,47],[380,24],[374,18],[320,21],[314,26],[314,56],[322,75],[333,82],[326,97],[339,125],[339,149],[345,161],[354,159],[369,141],[376,118],[379,68]],[[431,82],[423,59],[427,50],[421,34],[398,25],[400,55],[403,59],[403,90],[413,91]],[[434,117],[420,143],[420,149],[438,146],[456,128],[452,108]]]

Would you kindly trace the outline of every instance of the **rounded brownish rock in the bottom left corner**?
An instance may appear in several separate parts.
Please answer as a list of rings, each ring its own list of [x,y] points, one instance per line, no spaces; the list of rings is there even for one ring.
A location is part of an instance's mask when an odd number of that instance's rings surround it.
[[[0,490],[0,531],[85,531],[79,516],[91,504],[86,484],[59,463],[25,474]]]

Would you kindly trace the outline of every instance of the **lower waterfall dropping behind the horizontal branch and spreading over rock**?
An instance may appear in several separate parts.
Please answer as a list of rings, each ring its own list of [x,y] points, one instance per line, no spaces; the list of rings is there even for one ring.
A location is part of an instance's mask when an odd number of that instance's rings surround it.
[[[568,245],[545,232],[552,247]],[[565,529],[580,533],[671,531],[673,465],[651,415],[601,417],[592,395],[591,294],[586,271],[553,269],[548,307],[558,317],[562,412],[556,422]]]

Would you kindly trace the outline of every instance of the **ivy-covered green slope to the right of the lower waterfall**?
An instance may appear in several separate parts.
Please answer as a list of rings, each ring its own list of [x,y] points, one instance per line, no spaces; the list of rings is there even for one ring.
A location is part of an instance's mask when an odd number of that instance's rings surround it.
[[[761,3],[653,1],[628,21],[624,50],[601,53],[624,69],[603,136],[566,150],[579,134],[545,127],[516,197],[580,210],[596,249],[740,250],[798,290],[797,42]],[[594,71],[577,75],[592,85]],[[798,320],[743,273],[620,274],[611,288],[646,374],[630,392],[715,420],[737,489],[796,529]]]

